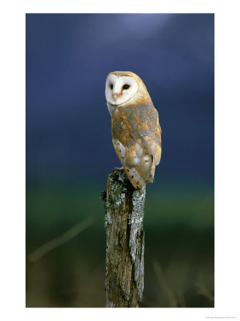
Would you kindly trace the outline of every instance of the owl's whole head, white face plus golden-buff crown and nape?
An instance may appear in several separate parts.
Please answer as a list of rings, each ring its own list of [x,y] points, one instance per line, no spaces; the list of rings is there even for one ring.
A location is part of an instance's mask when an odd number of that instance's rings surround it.
[[[108,74],[105,96],[111,105],[122,105],[130,101],[131,98],[135,96],[142,97],[146,93],[147,89],[144,83],[135,73],[131,71],[114,71]],[[148,93],[147,96],[149,96]]]

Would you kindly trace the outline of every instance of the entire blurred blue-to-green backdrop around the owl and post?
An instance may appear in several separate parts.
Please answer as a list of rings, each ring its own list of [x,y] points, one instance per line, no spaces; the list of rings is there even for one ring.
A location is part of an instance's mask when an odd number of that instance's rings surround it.
[[[100,193],[120,167],[104,93],[111,71],[142,78],[162,126],[141,306],[212,307],[214,14],[26,14],[26,255],[94,220],[27,265],[26,306],[105,306]]]

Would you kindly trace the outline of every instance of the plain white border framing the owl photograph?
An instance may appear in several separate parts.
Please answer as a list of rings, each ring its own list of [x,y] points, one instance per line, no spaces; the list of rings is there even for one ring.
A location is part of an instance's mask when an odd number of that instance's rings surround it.
[[[0,319],[239,320],[239,1],[1,1]],[[25,308],[25,14],[215,14],[215,308]]]

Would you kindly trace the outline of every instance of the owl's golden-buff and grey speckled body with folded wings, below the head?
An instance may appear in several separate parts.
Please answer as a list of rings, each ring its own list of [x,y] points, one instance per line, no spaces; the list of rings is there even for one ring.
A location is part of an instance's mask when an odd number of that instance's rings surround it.
[[[154,113],[157,115],[156,110]],[[145,118],[133,108],[128,117],[127,108],[120,108],[112,118],[112,135],[113,146],[132,185],[142,188],[152,182],[162,152],[158,115],[155,119]]]

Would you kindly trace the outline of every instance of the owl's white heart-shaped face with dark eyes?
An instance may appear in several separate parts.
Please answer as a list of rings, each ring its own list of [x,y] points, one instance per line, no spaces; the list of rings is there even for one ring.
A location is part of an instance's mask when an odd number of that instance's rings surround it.
[[[121,105],[137,93],[138,85],[130,76],[110,75],[106,81],[105,96],[111,105]]]

